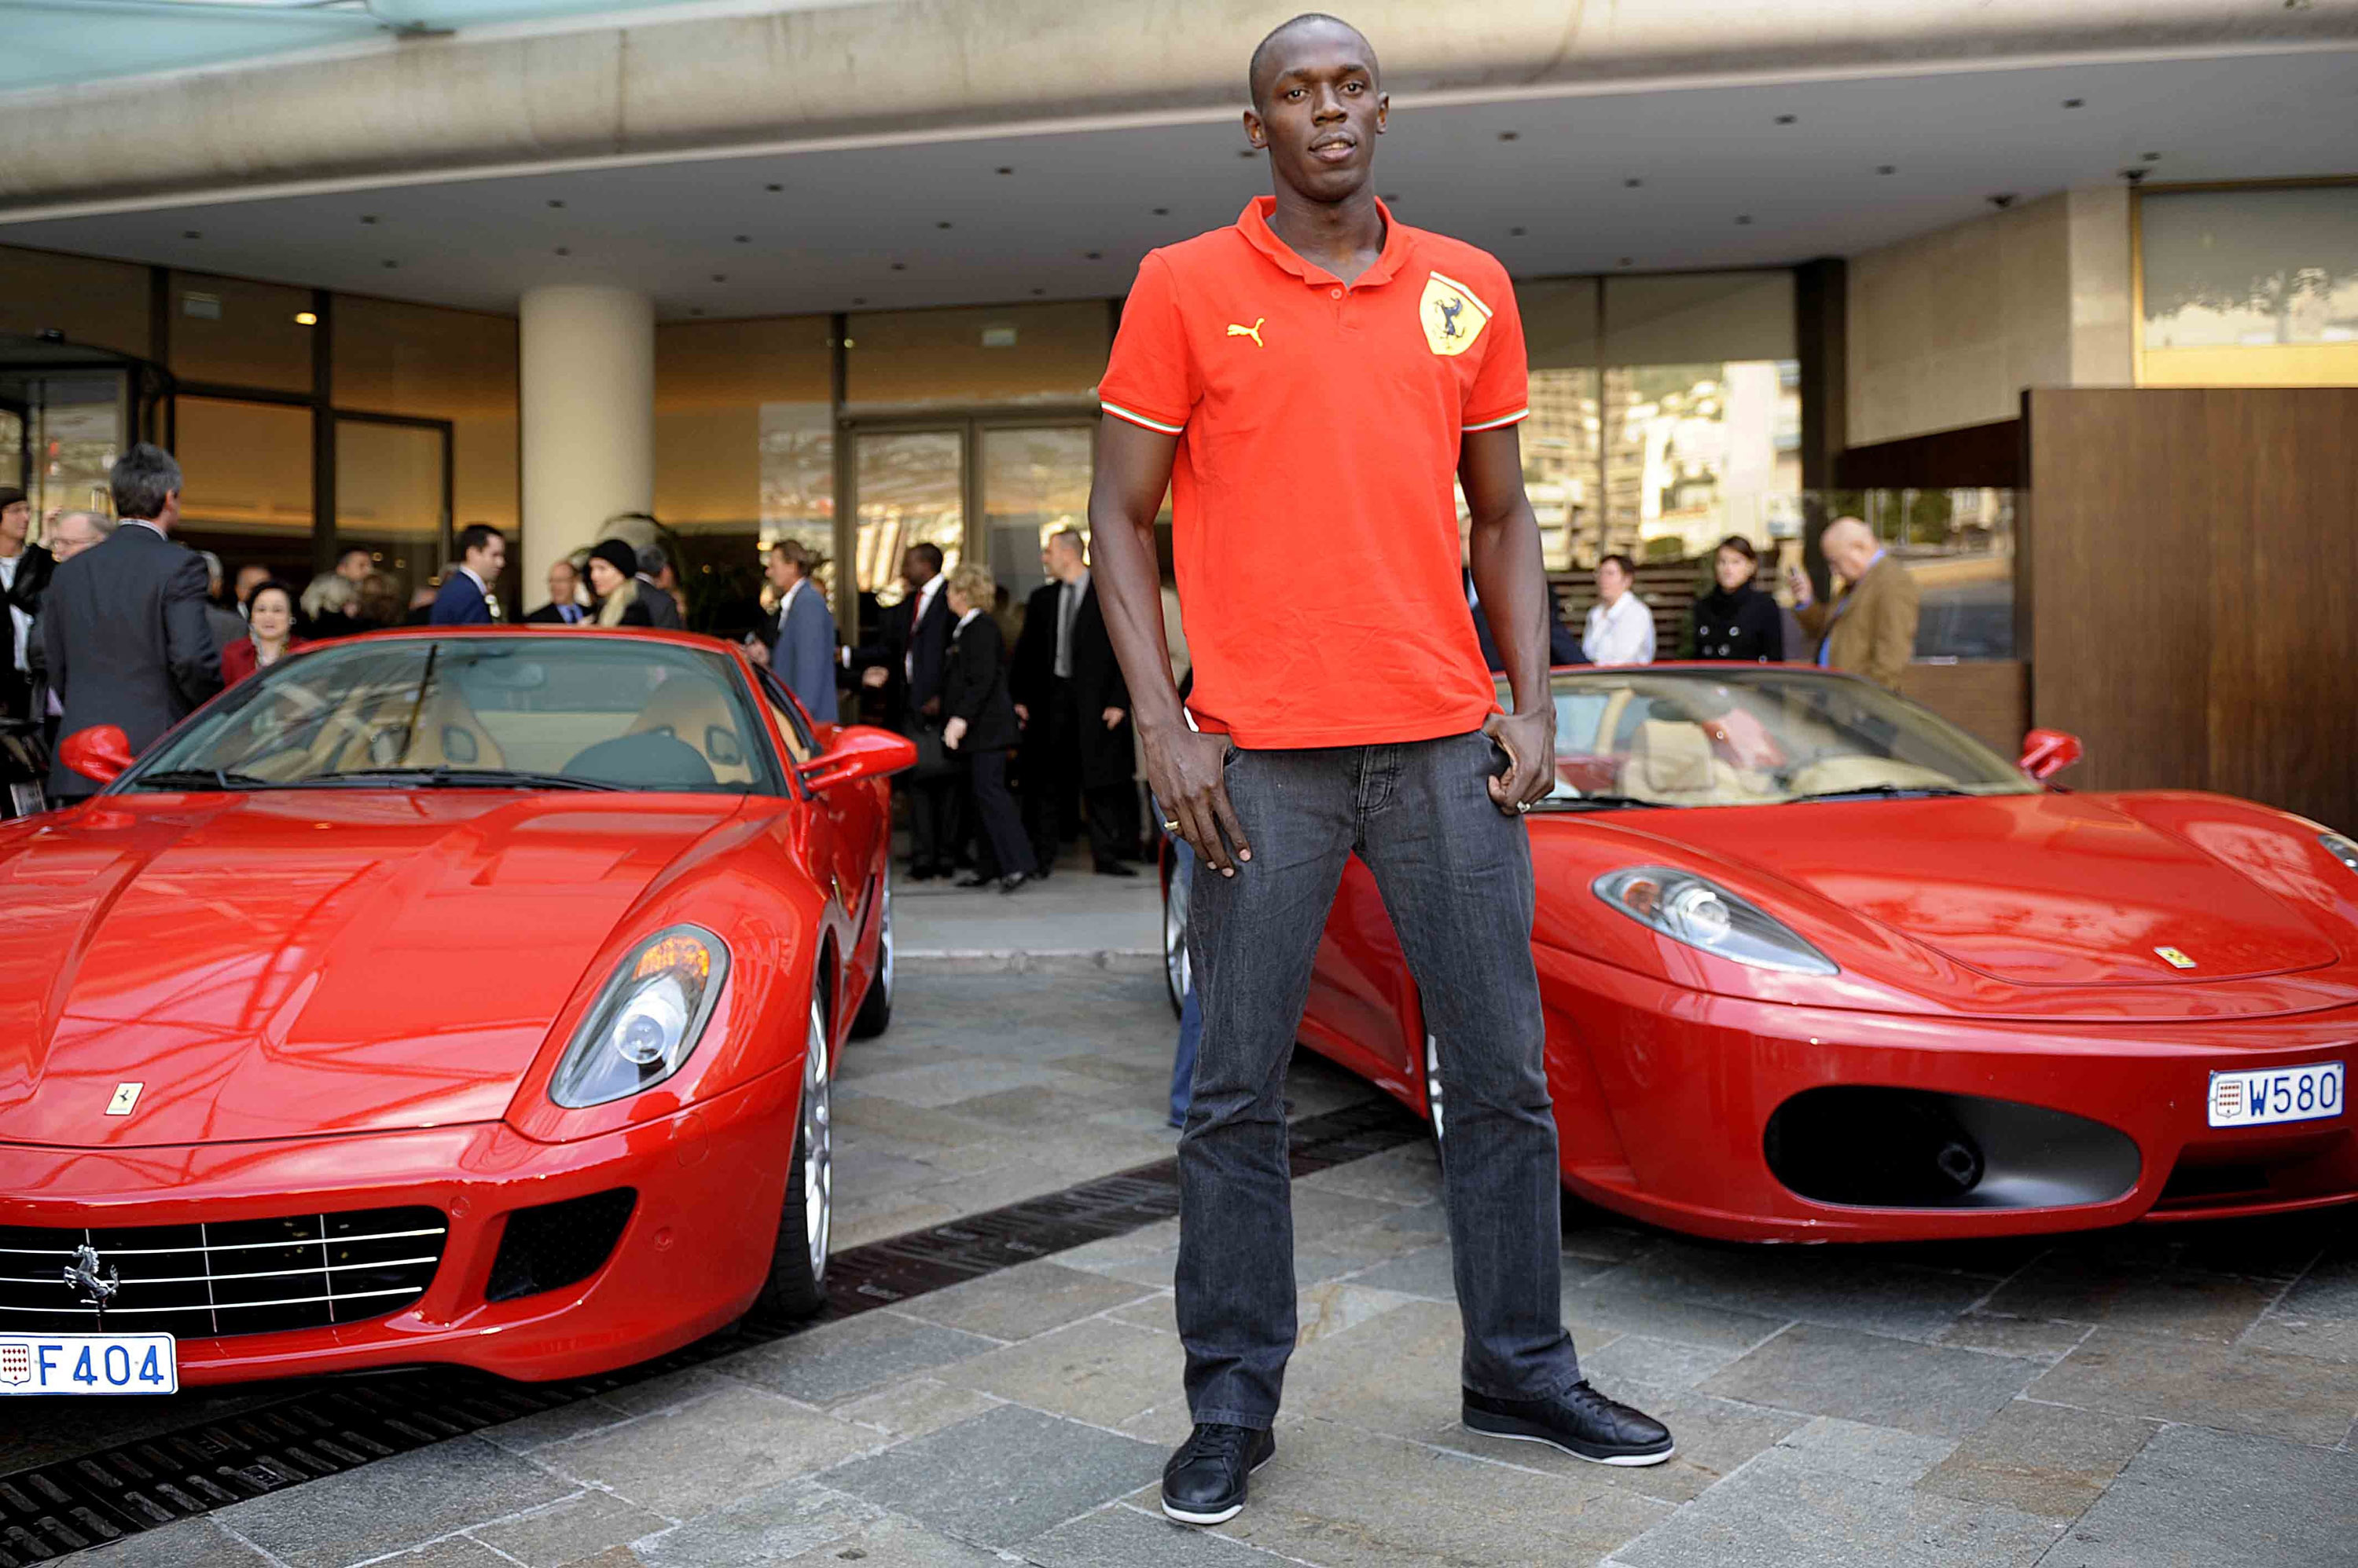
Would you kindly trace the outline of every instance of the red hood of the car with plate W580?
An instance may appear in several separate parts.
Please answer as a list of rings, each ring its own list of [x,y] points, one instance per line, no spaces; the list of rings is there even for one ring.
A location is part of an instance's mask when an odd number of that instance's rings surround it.
[[[2233,865],[2084,795],[1651,811],[1641,825],[2016,986],[2202,983],[2339,957]]]

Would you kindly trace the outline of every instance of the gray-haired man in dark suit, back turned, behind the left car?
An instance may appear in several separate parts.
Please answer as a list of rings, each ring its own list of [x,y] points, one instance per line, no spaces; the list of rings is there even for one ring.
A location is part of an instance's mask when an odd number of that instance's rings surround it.
[[[116,724],[144,752],[222,689],[222,651],[205,625],[205,564],[172,542],[179,465],[141,441],[116,460],[108,483],[123,521],[57,568],[40,637],[66,707],[59,733]],[[52,764],[50,799],[97,790],[94,778]]]

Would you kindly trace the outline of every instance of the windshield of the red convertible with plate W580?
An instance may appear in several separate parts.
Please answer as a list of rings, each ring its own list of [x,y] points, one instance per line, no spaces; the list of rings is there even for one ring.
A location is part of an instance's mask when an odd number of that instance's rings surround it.
[[[1556,674],[1554,693],[1556,785],[1537,809],[2037,790],[1948,719],[1839,674],[1596,670]]]

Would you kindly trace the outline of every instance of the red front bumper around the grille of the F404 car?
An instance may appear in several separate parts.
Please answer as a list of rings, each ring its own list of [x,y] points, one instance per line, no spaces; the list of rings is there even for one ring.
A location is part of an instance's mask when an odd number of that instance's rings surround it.
[[[573,1144],[538,1144],[505,1122],[177,1148],[0,1144],[0,1224],[179,1226],[429,1205],[450,1231],[417,1302],[335,1327],[182,1339],[182,1382],[424,1363],[521,1382],[582,1377],[689,1344],[752,1304],[778,1233],[797,1094],[797,1073],[766,1073]],[[625,1186],[637,1205],[597,1273],[486,1302],[512,1212]]]

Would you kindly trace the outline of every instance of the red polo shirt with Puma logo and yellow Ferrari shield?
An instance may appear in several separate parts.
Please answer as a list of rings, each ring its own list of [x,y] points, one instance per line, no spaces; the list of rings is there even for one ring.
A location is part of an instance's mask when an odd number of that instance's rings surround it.
[[[1464,431],[1528,413],[1514,288],[1389,210],[1344,285],[1273,210],[1151,252],[1099,382],[1106,413],[1179,436],[1188,712],[1245,747],[1462,736],[1497,703],[1453,483]]]

